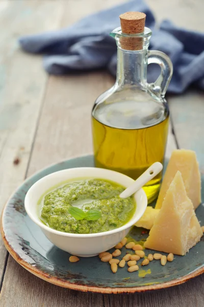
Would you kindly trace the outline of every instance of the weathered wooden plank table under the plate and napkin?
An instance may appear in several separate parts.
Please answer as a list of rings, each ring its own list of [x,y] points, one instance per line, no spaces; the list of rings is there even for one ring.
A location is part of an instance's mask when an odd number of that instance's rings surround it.
[[[0,0],[0,206],[35,171],[92,151],[90,115],[95,98],[114,80],[103,71],[47,76],[41,57],[23,54],[22,34],[57,29],[121,0]],[[148,0],[158,20],[204,30],[203,0]],[[177,146],[197,152],[204,175],[204,95],[189,90],[169,97],[172,127],[167,156]],[[75,142],[75,140],[78,140]],[[204,276],[167,290],[101,295],[62,289],[25,271],[0,242],[3,307],[203,307]]]

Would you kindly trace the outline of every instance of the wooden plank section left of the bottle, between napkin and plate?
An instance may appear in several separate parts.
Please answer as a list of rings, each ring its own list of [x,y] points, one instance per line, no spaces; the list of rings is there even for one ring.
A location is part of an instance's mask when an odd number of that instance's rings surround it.
[[[49,78],[29,176],[50,163],[92,152],[91,109],[109,80],[105,72]]]

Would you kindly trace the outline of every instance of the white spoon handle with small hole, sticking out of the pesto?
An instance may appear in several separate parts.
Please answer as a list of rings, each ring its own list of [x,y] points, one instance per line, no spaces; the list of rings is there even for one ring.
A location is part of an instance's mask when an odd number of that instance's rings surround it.
[[[121,194],[120,198],[125,199],[137,192],[143,185],[149,180],[157,176],[157,174],[163,169],[163,165],[160,162],[155,162],[149,168],[147,168],[141,176],[128,188],[126,188]]]

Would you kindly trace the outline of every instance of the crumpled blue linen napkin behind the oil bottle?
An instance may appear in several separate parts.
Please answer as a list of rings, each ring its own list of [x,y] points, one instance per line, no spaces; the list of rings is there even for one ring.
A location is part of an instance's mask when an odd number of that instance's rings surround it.
[[[119,27],[119,15],[127,11],[146,14],[145,26],[153,32],[149,49],[166,53],[173,62],[169,93],[182,93],[190,84],[204,89],[204,34],[175,27],[164,20],[159,29],[143,0],[131,0],[87,16],[71,27],[19,39],[29,53],[45,54],[43,65],[49,74],[108,68],[116,75],[116,43],[109,33]],[[159,68],[158,68],[159,69]],[[156,65],[149,65],[148,81],[158,76]]]

